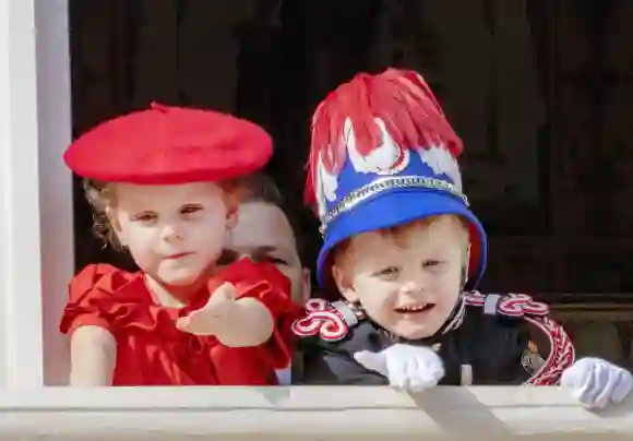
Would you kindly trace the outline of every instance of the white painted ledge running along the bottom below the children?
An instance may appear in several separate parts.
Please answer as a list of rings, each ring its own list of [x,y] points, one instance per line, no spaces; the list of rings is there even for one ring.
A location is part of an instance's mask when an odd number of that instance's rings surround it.
[[[624,440],[633,398],[600,414],[558,388],[46,388],[0,392],[2,440]],[[483,438],[482,438],[483,439]]]

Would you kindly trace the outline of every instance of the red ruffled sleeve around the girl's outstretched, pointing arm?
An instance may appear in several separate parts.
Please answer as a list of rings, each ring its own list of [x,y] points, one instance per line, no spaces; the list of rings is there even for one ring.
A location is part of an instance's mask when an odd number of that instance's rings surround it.
[[[261,349],[275,369],[288,367],[294,351],[290,326],[303,312],[303,308],[290,299],[290,281],[272,263],[254,263],[244,258],[217,274],[208,285],[210,291],[225,282],[236,286],[238,298],[258,299],[271,312],[275,330]]]

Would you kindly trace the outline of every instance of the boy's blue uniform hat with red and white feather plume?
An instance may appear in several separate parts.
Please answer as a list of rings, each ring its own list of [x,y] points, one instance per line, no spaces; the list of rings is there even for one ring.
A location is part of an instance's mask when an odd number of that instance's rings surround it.
[[[486,233],[462,192],[462,141],[425,80],[413,71],[361,73],[319,105],[312,119],[307,202],[324,238],[316,276],[346,239],[434,215],[469,224],[471,283],[486,266]],[[380,250],[377,250],[380,252]]]

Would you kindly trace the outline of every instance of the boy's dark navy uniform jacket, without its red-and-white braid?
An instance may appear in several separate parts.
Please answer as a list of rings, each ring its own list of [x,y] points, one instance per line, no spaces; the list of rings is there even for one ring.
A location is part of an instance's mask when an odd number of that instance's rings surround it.
[[[486,314],[482,308],[466,306],[462,324],[432,339],[401,341],[389,337],[377,324],[361,321],[339,342],[318,336],[300,341],[304,355],[303,376],[299,384],[389,384],[382,374],[366,369],[354,359],[360,350],[380,351],[395,343],[434,346],[444,362],[445,376],[440,384],[464,383],[463,369],[470,372],[471,384],[521,384],[542,361],[530,348],[527,323],[517,318]],[[535,358],[536,356],[536,358]]]

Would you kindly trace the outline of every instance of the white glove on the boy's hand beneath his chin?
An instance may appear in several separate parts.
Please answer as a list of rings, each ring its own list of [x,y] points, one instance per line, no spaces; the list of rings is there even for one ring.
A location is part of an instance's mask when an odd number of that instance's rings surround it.
[[[380,353],[361,350],[356,361],[386,377],[393,388],[419,392],[444,377],[442,359],[428,347],[396,344]]]

